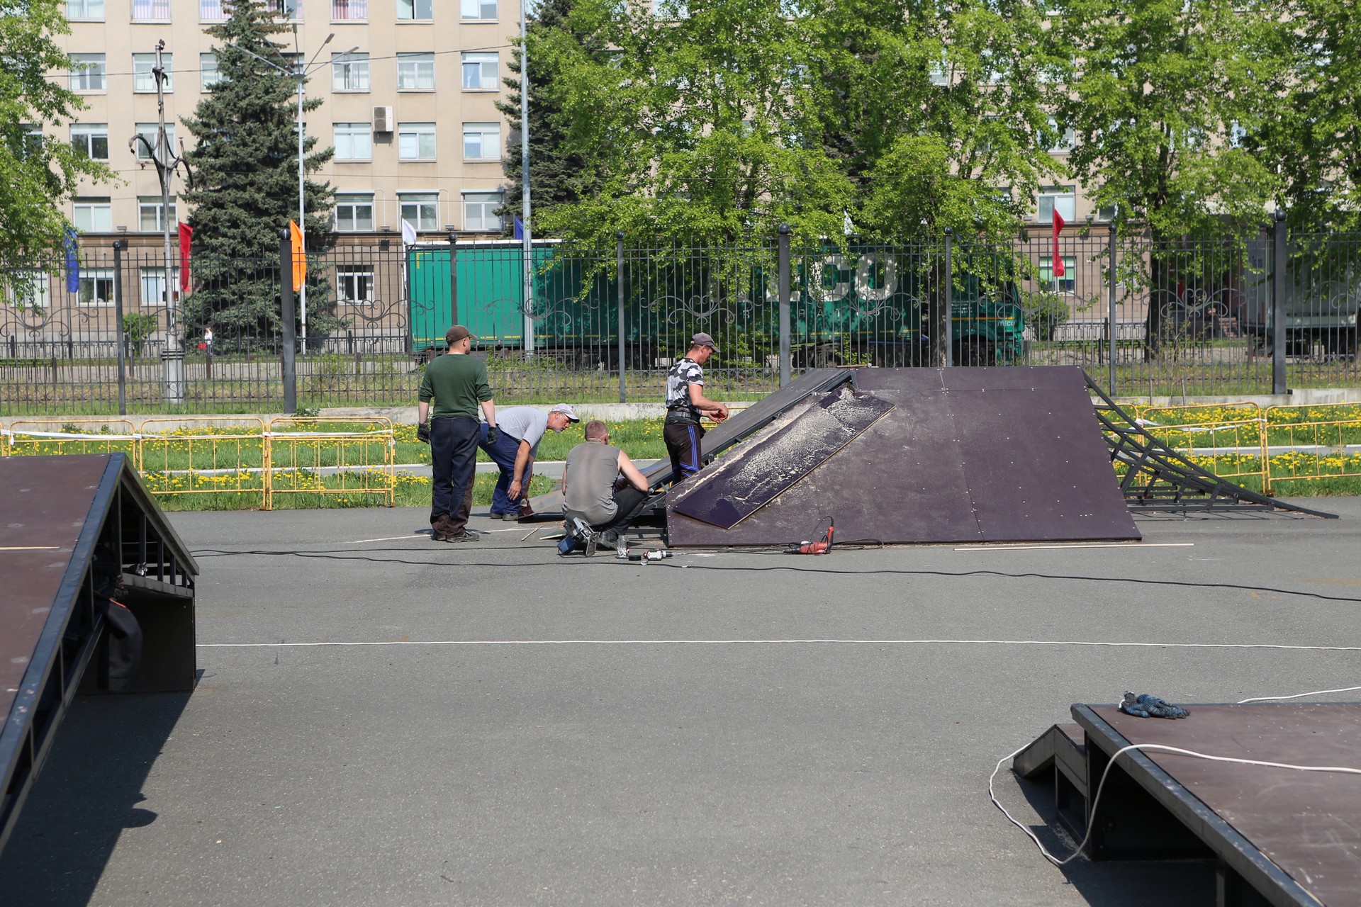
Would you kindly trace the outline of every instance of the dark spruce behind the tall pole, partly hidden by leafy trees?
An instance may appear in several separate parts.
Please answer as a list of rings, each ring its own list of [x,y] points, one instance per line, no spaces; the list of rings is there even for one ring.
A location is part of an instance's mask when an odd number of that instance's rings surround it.
[[[525,24],[529,33],[529,193],[535,209],[562,204],[577,204],[603,186],[597,160],[566,148],[566,128],[562,103],[555,92],[558,52],[538,54],[535,46],[544,42],[568,42],[591,56],[603,57],[608,48],[595,33],[573,27],[569,18],[576,0],[543,0],[534,18]],[[520,60],[517,50],[509,64],[512,78],[502,79],[508,91],[497,109],[505,114],[512,135],[520,132]],[[509,181],[505,205],[499,211],[502,231],[510,235],[514,218],[523,211],[523,169],[520,144],[508,146],[501,166]],[[536,230],[538,233],[538,230]]]

